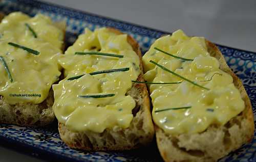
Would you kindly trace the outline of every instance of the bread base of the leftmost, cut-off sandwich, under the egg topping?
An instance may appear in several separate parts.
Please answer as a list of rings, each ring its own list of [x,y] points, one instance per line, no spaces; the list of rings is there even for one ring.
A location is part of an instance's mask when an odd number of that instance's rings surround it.
[[[0,21],[4,18],[4,14],[0,13]],[[55,22],[55,26],[63,31],[66,31],[66,22]],[[65,38],[65,35],[64,37]],[[62,51],[65,45],[62,45]],[[52,105],[54,96],[52,88],[49,91],[48,97],[39,104],[34,103],[17,103],[9,104],[5,98],[0,95],[0,123],[16,124],[19,126],[44,126],[50,124],[55,119]]]

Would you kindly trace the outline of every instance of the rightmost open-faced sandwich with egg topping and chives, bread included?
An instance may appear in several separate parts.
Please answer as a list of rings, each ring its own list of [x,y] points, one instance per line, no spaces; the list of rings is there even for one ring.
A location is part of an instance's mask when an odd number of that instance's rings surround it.
[[[165,161],[217,161],[252,139],[250,100],[214,44],[178,30],[142,60]]]

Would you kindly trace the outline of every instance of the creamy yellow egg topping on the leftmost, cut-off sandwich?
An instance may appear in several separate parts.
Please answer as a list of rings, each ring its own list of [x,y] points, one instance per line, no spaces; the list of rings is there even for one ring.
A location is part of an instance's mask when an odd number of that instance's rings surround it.
[[[37,38],[34,38],[25,23],[31,26]],[[49,17],[41,14],[31,18],[26,14],[14,12],[2,20],[0,56],[3,56],[7,63],[13,82],[10,82],[3,64],[0,63],[0,95],[4,96],[8,103],[40,103],[46,99],[52,84],[60,75],[56,54],[61,52],[62,39],[62,31],[53,25]],[[33,55],[9,45],[8,42],[37,50],[40,54]],[[38,96],[15,97],[11,94]]]

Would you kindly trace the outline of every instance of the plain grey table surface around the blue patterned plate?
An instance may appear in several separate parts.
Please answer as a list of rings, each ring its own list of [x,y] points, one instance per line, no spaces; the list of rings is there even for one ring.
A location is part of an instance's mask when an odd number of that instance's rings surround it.
[[[256,52],[256,1],[93,1],[45,0],[62,6],[104,15]],[[125,7],[125,8],[124,8]],[[43,161],[0,147],[0,161]]]

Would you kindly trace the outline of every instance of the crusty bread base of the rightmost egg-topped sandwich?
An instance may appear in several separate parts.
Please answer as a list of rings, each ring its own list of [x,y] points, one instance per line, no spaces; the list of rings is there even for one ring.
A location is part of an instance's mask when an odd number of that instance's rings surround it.
[[[241,93],[245,109],[223,126],[210,125],[204,132],[172,136],[156,128],[158,149],[164,161],[217,161],[253,138],[254,122],[250,99],[241,80],[228,67],[218,47],[206,40],[210,56],[220,62],[220,69],[233,77]]]

